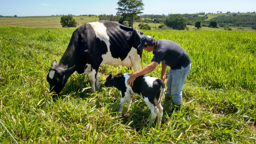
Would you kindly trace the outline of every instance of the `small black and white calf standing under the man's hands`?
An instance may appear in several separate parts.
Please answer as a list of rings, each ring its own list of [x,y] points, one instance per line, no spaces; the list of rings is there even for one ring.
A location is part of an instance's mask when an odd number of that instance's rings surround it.
[[[127,84],[129,77],[128,73],[123,75],[120,72],[117,75],[108,75],[105,82],[106,87],[113,86],[121,91],[122,99],[120,101],[119,115],[122,114],[125,101],[127,102],[128,109],[130,109],[132,96],[138,94],[143,98],[152,113],[148,125],[151,126],[157,117],[157,127],[159,127],[163,116],[161,99],[165,91],[165,84],[160,78],[143,75],[136,78],[133,86],[129,86]]]

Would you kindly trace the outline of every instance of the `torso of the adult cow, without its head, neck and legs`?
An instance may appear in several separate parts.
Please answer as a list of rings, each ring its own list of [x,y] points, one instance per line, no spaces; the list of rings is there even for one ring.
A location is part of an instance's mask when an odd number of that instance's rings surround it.
[[[131,67],[133,63],[129,57],[138,59],[142,53],[137,49],[140,42],[137,31],[119,23],[106,20],[87,23],[79,27],[77,33],[78,48],[81,53],[87,50],[87,61],[101,57],[101,64]]]

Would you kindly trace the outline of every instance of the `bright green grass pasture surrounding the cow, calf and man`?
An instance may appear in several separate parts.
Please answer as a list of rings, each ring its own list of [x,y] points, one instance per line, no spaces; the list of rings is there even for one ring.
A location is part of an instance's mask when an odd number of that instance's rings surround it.
[[[75,29],[0,26],[0,121],[18,143],[256,143],[256,33],[146,31],[173,40],[192,59],[180,112],[163,98],[159,130],[149,128],[150,109],[139,95],[117,116],[120,94],[103,86],[108,74],[132,72],[100,66],[101,89],[89,74],[74,73],[61,97],[49,93],[46,76]],[[143,66],[152,53],[143,52]],[[149,73],[160,78],[161,66]],[[83,92],[82,92],[83,91]],[[126,104],[125,104],[126,105]],[[15,143],[0,124],[0,143]]]

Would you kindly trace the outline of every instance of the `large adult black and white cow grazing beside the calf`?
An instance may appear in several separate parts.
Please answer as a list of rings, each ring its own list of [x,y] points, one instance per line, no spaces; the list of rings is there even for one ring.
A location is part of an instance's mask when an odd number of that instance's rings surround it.
[[[73,72],[90,73],[90,83],[95,92],[99,89],[99,66],[132,67],[140,70],[142,49],[138,49],[144,34],[119,23],[100,20],[80,26],[73,32],[70,43],[59,64],[54,60],[47,75],[50,90],[61,92]]]

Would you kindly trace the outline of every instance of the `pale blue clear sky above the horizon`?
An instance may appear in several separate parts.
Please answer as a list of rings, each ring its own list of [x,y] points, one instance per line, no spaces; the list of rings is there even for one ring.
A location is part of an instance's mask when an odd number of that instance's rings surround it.
[[[0,0],[0,15],[116,15],[117,2],[118,0]],[[256,0],[143,0],[143,3],[143,14],[256,12]]]

